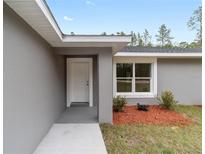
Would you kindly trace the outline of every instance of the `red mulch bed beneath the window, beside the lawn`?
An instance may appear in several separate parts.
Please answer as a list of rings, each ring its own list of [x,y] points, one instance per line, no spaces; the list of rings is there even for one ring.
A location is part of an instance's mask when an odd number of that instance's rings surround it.
[[[168,124],[188,125],[191,119],[175,112],[163,109],[157,105],[150,105],[149,111],[139,111],[136,106],[126,106],[123,112],[113,112],[114,124]]]

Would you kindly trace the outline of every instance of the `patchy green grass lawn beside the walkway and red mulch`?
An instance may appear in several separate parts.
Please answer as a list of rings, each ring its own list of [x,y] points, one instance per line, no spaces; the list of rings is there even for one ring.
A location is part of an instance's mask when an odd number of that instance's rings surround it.
[[[177,112],[193,119],[185,126],[101,124],[109,154],[197,154],[202,153],[202,109],[178,106]]]

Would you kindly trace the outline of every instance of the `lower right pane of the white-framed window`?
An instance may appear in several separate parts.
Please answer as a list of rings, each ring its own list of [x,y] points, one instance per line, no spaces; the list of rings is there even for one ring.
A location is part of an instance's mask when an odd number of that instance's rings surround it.
[[[150,80],[149,79],[135,79],[135,91],[136,92],[150,92]]]

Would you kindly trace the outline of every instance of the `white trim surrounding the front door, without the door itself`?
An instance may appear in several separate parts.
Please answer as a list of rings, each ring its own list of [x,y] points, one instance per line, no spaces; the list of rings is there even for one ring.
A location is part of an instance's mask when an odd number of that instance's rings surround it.
[[[88,62],[89,65],[89,106],[93,106],[93,59],[92,58],[66,58],[66,96],[67,96],[67,107],[71,105],[71,73],[70,64],[76,62]]]

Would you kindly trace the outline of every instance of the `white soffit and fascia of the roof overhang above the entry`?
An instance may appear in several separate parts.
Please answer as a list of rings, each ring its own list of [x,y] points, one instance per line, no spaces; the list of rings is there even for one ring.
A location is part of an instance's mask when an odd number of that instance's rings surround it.
[[[65,35],[44,0],[4,0],[53,47],[112,47],[117,51],[131,36]]]

